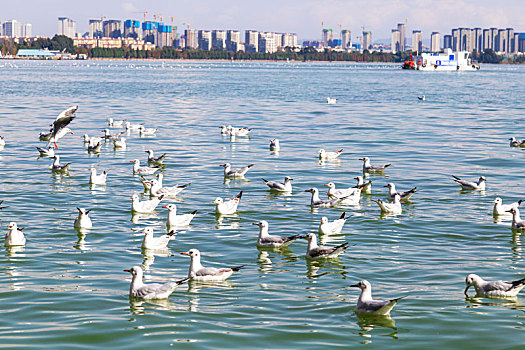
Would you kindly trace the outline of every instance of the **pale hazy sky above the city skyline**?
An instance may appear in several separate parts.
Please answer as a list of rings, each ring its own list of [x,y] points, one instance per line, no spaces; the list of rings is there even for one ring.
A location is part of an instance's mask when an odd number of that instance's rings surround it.
[[[525,32],[525,0],[22,0],[2,1],[0,21],[16,19],[33,25],[33,35],[53,36],[57,18],[77,22],[77,31],[88,30],[90,18],[135,18],[143,20],[161,14],[164,22],[174,23],[182,32],[185,24],[194,29],[255,29],[295,32],[299,39],[319,39],[321,22],[325,28],[352,31],[352,39],[361,27],[372,31],[375,39],[390,38],[396,23],[408,18],[408,31],[449,33],[455,27],[513,27]]]

